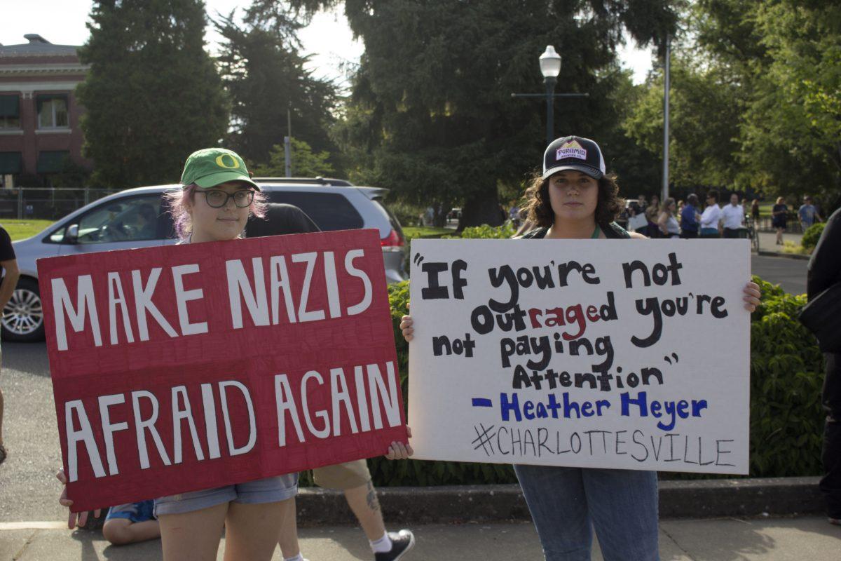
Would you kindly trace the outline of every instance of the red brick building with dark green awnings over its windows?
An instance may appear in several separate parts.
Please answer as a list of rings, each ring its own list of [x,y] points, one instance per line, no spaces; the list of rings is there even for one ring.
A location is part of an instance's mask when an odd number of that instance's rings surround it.
[[[0,186],[50,185],[82,157],[82,130],[74,90],[87,66],[77,46],[52,45],[37,34],[29,43],[0,45]]]

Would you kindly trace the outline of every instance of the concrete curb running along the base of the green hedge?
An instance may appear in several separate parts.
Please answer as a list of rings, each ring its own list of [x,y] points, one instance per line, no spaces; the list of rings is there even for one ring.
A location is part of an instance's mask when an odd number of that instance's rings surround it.
[[[817,489],[819,479],[661,481],[660,516],[709,518],[818,513],[823,510]],[[381,487],[377,493],[383,517],[391,527],[407,523],[531,520],[526,500],[516,484]],[[301,489],[297,502],[301,526],[331,526],[354,521],[340,491]]]

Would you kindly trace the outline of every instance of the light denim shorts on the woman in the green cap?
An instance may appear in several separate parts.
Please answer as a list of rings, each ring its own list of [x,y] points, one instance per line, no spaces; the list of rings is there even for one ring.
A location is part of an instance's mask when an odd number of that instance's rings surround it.
[[[291,499],[297,494],[298,474],[283,474],[278,477],[225,485],[225,487],[161,497],[155,500],[155,516],[200,511],[228,502],[261,505]]]

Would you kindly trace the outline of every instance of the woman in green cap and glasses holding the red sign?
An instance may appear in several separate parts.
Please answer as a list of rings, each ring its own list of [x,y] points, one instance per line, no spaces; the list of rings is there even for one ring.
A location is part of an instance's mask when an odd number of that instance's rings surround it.
[[[249,216],[263,217],[267,204],[251,181],[245,161],[223,148],[193,152],[184,164],[182,189],[169,193],[172,217],[181,243],[228,241],[242,236]],[[405,448],[389,456],[408,457]],[[58,479],[66,483],[63,471]],[[298,474],[258,479],[215,489],[191,491],[155,500],[165,561],[214,561],[225,531],[225,560],[268,561],[278,544],[280,529],[294,516],[292,499],[298,493]],[[70,506],[66,490],[59,500]],[[95,513],[98,516],[98,512]],[[74,513],[70,527],[76,526]],[[83,526],[87,513],[79,516]]]

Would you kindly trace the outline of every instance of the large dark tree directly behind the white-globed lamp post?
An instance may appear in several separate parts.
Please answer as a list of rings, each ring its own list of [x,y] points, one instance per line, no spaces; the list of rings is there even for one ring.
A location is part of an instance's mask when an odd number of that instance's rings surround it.
[[[347,0],[345,13],[366,50],[350,101],[355,129],[341,134],[369,154],[365,174],[377,184],[439,210],[462,203],[462,226],[499,224],[500,183],[519,186],[539,166],[544,105],[510,94],[543,91],[546,45],[563,56],[558,92],[590,93],[556,103],[558,135],[599,139],[616,122],[616,79],[605,71],[623,29],[645,45],[674,24],[666,0]]]

